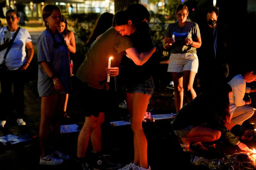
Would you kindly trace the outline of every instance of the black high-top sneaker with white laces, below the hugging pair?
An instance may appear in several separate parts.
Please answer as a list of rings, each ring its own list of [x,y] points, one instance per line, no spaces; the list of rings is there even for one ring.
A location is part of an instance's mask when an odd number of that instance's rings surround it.
[[[97,163],[94,165],[93,169],[94,170],[102,170],[102,169],[117,170],[121,167],[122,167],[121,164],[113,163],[113,162],[107,160],[107,158],[105,156],[100,156],[97,160]]]

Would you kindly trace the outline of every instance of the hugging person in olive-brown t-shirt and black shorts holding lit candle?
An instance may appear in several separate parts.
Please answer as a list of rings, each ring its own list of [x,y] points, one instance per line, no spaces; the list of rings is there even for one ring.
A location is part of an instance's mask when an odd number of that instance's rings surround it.
[[[139,54],[128,36],[135,30],[127,26],[127,31],[127,34],[122,36],[114,27],[109,28],[89,49],[84,62],[77,71],[76,77],[84,83],[85,88],[85,122],[77,142],[77,162],[81,168],[88,165],[85,153],[90,139],[94,150],[94,168],[118,169],[122,167],[120,164],[107,161],[101,153],[101,124],[105,119],[105,113],[108,112],[108,102],[110,102],[107,74],[111,77],[118,75],[118,66],[124,52],[131,57],[135,64],[142,65],[156,50],[154,47],[148,52]],[[109,57],[113,57],[111,68],[107,68]],[[99,106],[98,103],[101,105]]]

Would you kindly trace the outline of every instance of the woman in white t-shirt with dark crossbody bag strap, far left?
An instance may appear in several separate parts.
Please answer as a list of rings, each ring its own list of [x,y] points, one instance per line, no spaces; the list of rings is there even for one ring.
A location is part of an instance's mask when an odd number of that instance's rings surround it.
[[[14,88],[14,106],[16,107],[16,121],[18,125],[26,125],[23,121],[24,115],[24,78],[25,70],[28,68],[33,55],[34,48],[28,31],[18,26],[20,21],[16,10],[10,9],[6,12],[7,26],[0,28],[0,56],[2,59],[1,90],[2,108],[0,114],[0,127],[6,123],[6,115],[10,112],[13,102],[12,85]],[[25,47],[28,49],[26,57]]]

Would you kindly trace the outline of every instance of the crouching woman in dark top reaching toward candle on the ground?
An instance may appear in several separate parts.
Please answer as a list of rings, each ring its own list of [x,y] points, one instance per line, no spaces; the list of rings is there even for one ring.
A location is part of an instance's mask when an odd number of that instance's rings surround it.
[[[179,137],[183,151],[190,143],[212,142],[220,137],[241,150],[249,148],[240,142],[226,127],[230,122],[229,94],[232,88],[225,84],[211,94],[201,94],[183,106],[173,120],[173,130]]]

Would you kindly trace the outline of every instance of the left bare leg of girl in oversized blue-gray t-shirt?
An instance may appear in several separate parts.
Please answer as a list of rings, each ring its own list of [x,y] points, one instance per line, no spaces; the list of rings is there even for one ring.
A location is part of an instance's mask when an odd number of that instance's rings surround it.
[[[41,146],[41,155],[45,157],[49,152],[49,128],[52,122],[53,114],[56,111],[58,95],[44,96],[41,98],[41,120],[39,128],[39,139]]]

